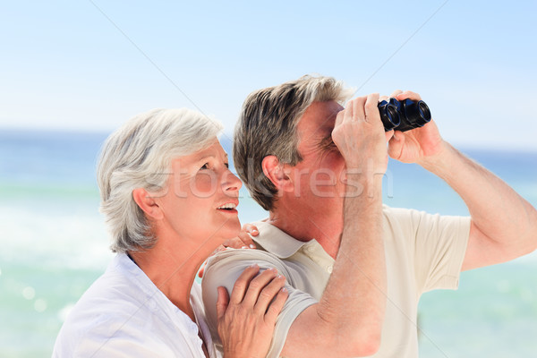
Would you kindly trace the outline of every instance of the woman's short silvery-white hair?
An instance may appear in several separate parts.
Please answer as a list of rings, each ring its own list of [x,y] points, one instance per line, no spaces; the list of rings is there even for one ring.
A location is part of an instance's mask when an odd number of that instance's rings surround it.
[[[172,160],[207,148],[221,130],[222,124],[190,109],[154,109],[133,117],[107,138],[97,177],[112,251],[153,247],[157,238],[132,191],[165,189]]]

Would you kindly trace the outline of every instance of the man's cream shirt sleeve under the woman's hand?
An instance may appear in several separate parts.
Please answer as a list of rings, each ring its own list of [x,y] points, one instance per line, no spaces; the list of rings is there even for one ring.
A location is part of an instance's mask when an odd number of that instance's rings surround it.
[[[294,288],[294,275],[276,256],[260,250],[226,250],[213,256],[205,268],[201,281],[203,304],[213,343],[222,352],[223,347],[217,333],[217,287],[225,286],[231,295],[235,280],[245,268],[258,264],[260,271],[277,268],[286,277],[289,296],[280,312],[270,343],[267,357],[278,357],[286,343],[287,332],[298,315],[311,304],[318,303],[310,294]]]

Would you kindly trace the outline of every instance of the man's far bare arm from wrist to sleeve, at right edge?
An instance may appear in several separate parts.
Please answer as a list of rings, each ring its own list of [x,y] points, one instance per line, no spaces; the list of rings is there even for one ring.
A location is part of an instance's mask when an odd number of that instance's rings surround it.
[[[470,211],[473,243],[469,243],[465,269],[512,260],[535,250],[537,211],[498,176],[446,142],[438,155],[424,158],[419,164],[444,179]],[[480,240],[490,244],[480,246],[481,254],[475,252],[481,258],[473,258],[470,245]]]

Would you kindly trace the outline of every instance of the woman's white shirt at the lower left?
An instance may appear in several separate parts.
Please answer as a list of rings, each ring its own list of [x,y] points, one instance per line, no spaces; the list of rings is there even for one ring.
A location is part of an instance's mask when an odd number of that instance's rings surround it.
[[[52,356],[205,358],[201,331],[209,356],[216,357],[196,282],[191,304],[198,325],[120,253],[69,313]]]

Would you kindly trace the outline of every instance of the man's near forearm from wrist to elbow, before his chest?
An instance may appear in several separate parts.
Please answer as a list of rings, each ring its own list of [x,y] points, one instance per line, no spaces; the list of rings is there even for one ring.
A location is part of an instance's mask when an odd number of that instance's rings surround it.
[[[341,244],[319,307],[321,317],[334,321],[342,339],[352,339],[359,351],[376,351],[386,308],[382,176],[370,179],[361,195],[345,198]]]

